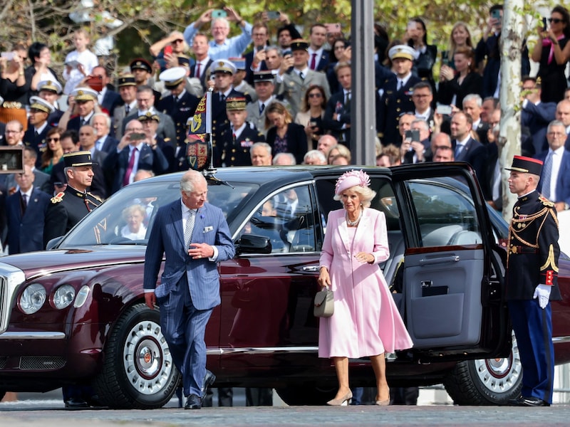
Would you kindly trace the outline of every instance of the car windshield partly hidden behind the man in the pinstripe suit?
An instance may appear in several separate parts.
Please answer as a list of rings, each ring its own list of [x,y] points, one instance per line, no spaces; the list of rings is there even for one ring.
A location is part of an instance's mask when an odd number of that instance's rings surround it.
[[[242,183],[209,185],[207,201],[222,209],[231,223],[244,200],[257,187]],[[149,180],[126,186],[83,218],[58,248],[146,244],[157,210],[177,199],[180,199],[180,181]]]

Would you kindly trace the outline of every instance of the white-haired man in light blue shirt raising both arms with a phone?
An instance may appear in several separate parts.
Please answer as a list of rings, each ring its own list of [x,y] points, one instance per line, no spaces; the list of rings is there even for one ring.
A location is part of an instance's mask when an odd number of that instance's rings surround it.
[[[199,28],[204,25],[204,23],[212,23],[211,31],[214,40],[208,43],[208,55],[213,60],[242,56],[242,52],[245,51],[249,43],[252,42],[252,24],[244,21],[232,7],[226,6],[223,10],[226,12],[227,18],[216,18],[215,14],[212,16],[214,9],[208,9],[200,15],[197,21],[192,22],[184,30],[186,43],[188,43],[188,46],[192,46],[194,36],[199,31]],[[227,38],[230,21],[236,22],[237,25],[242,28],[242,34]]]

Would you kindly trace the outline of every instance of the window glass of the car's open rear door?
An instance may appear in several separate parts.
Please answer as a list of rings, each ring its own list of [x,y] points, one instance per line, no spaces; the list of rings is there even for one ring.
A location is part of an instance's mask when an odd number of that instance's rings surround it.
[[[420,247],[482,243],[472,201],[452,185],[408,183],[420,227]]]

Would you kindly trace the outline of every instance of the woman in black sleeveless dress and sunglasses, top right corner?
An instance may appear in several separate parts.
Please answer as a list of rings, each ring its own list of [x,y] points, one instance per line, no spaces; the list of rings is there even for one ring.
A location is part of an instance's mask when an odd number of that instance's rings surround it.
[[[570,58],[570,14],[564,6],[554,6],[549,26],[537,26],[539,40],[532,50],[532,60],[539,63],[541,102],[559,102],[566,89],[566,63]]]

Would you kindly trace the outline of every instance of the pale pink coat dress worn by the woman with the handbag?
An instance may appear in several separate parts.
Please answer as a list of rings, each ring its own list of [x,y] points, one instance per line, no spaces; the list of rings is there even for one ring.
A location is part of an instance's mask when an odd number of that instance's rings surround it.
[[[364,209],[357,227],[348,227],[346,211],[328,214],[319,265],[328,268],[334,314],[321,317],[318,357],[359,358],[413,346],[378,263],[387,260],[388,232],[383,212]],[[358,252],[375,263],[360,263]]]

